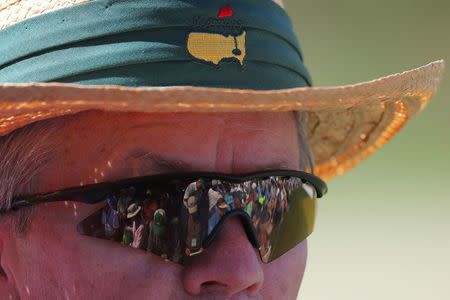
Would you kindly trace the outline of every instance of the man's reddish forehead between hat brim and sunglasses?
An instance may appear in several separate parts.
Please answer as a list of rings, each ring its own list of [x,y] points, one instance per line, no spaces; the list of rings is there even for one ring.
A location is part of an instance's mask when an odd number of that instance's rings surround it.
[[[89,111],[49,125],[57,128],[58,146],[48,164],[48,190],[152,173],[246,173],[299,164],[292,112]]]

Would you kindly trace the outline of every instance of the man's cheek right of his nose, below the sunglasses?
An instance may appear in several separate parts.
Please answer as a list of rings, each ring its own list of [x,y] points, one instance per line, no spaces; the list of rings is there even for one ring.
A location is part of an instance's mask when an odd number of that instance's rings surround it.
[[[262,294],[266,299],[296,299],[308,255],[307,241],[264,267]]]

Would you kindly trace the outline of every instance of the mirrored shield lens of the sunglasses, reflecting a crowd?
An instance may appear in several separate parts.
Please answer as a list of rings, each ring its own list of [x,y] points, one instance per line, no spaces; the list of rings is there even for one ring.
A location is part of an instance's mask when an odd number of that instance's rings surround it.
[[[78,231],[184,264],[221,230],[224,218],[239,211],[251,224],[246,230],[256,237],[263,262],[270,262],[312,232],[312,193],[301,179],[279,176],[130,185],[108,192],[105,207],[83,220]]]

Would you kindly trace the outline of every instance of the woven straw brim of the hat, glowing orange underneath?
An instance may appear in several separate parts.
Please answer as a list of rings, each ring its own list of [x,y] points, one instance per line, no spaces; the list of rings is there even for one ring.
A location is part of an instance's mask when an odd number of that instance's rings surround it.
[[[139,112],[304,111],[315,173],[330,179],[389,141],[433,97],[443,61],[374,81],[330,88],[0,85],[0,136],[39,120],[101,109]]]

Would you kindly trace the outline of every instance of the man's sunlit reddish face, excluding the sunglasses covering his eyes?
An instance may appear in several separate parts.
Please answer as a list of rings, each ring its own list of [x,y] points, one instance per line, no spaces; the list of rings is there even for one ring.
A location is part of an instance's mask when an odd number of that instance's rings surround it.
[[[58,145],[38,190],[186,171],[247,173],[298,169],[293,113],[144,114],[85,112],[55,119]],[[3,241],[2,261],[21,298],[295,299],[306,242],[263,264],[238,219],[189,266],[82,236],[76,225],[103,207],[36,206],[23,237]],[[0,295],[7,298],[7,295]]]

